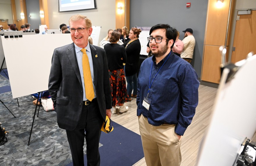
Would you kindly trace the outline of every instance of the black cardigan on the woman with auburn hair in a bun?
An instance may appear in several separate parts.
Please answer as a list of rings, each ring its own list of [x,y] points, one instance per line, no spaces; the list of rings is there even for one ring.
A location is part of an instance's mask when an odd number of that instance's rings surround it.
[[[123,46],[129,43],[130,40],[126,41]],[[125,63],[125,76],[132,76],[136,74],[140,69],[140,53],[141,43],[139,39],[131,42],[126,48],[127,62]]]

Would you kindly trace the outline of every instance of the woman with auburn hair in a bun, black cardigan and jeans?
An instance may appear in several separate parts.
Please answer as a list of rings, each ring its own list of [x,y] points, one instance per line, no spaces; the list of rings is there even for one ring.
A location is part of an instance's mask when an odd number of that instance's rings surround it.
[[[131,101],[131,97],[136,98],[137,96],[137,72],[140,66],[141,52],[141,43],[138,40],[140,32],[141,30],[138,28],[131,28],[129,40],[123,44],[127,55],[127,62],[125,63],[125,78],[127,81],[129,101]]]

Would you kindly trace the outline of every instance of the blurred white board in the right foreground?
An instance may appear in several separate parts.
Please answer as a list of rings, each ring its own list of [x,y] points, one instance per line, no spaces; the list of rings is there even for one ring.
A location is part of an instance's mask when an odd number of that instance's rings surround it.
[[[256,130],[256,56],[225,83],[223,71],[213,116],[198,154],[198,166],[232,166],[243,140]]]

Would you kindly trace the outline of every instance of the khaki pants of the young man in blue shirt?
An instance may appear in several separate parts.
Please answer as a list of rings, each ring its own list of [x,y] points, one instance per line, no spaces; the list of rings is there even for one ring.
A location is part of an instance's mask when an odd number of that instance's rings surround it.
[[[181,152],[175,125],[150,125],[143,115],[138,119],[147,166],[179,166]]]

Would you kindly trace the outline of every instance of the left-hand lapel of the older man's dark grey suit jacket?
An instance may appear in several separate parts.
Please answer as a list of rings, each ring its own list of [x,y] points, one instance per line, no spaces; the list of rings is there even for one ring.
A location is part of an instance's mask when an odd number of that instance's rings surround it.
[[[66,50],[66,54],[67,54],[67,57],[72,65],[72,68],[73,68],[75,74],[77,75],[77,79],[79,80],[79,83],[82,86],[82,79],[81,79],[81,75],[80,75],[80,71],[79,71],[79,67],[78,67],[78,63],[77,63],[77,56],[76,56],[76,52],[75,52],[74,43],[72,43],[68,46],[68,48]]]

